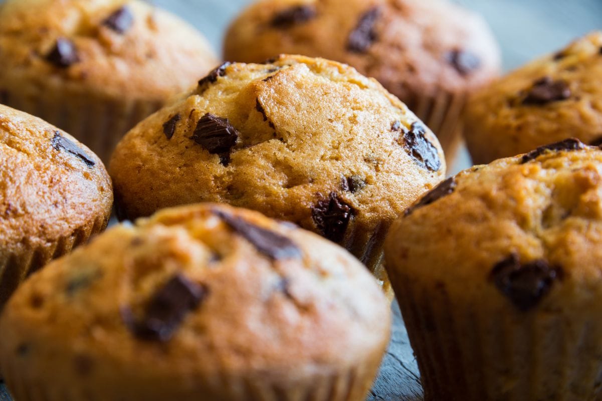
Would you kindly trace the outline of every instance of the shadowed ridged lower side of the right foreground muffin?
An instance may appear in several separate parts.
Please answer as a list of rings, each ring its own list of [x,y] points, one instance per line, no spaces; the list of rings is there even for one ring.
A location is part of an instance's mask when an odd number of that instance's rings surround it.
[[[426,401],[602,400],[596,316],[502,313],[394,281]]]

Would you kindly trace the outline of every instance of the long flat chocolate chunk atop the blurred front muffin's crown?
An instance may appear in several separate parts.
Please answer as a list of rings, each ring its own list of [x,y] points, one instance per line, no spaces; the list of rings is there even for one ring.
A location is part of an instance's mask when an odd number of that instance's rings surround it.
[[[253,225],[240,217],[234,217],[221,211],[216,212],[216,214],[230,228],[253,244],[260,253],[263,253],[268,258],[282,260],[300,259],[302,257],[299,247],[289,238],[284,237],[284,235]]]

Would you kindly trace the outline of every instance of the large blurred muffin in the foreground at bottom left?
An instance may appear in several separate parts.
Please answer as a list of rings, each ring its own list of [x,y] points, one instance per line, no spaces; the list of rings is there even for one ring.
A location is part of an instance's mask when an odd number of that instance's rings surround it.
[[[16,399],[363,401],[389,304],[348,252],[225,205],[120,225],[32,276],[0,320]]]

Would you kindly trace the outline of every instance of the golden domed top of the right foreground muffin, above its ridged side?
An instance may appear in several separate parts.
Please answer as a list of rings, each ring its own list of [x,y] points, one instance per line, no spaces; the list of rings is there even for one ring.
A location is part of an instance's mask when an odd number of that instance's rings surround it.
[[[602,151],[568,139],[447,179],[391,227],[389,276],[517,312],[599,308]],[[590,309],[591,310],[591,309]]]

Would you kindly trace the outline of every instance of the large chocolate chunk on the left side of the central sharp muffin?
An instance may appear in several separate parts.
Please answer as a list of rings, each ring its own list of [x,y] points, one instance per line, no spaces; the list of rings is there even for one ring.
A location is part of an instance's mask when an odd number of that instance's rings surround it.
[[[238,139],[238,131],[228,119],[207,113],[200,118],[190,139],[211,154],[229,153]]]

